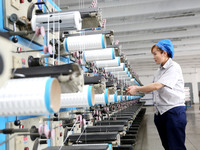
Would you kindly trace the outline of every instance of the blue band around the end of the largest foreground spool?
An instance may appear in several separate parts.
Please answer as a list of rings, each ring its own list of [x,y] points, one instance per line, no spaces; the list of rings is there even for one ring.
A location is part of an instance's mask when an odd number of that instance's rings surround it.
[[[45,106],[49,113],[54,113],[54,111],[50,107],[51,106],[50,92],[51,92],[51,84],[53,82],[53,79],[54,78],[49,78],[45,86],[45,95],[44,95]]]

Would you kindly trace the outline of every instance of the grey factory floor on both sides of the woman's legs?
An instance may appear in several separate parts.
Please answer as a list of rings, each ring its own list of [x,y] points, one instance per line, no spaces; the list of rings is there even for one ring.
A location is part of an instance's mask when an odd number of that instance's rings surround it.
[[[147,111],[134,150],[164,150],[157,129],[154,125],[154,107]],[[200,110],[199,104],[187,107],[186,142],[187,150],[200,150]]]

